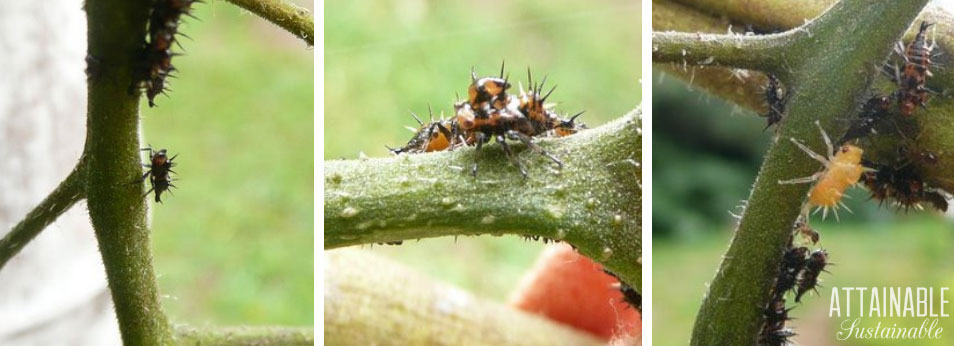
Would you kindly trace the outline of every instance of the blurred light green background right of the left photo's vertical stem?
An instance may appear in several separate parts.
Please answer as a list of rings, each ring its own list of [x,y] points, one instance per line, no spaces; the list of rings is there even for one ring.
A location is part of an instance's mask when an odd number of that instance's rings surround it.
[[[310,1],[298,1],[311,8]],[[194,6],[144,142],[178,153],[152,207],[163,306],[193,325],[312,325],[314,50],[219,1]]]

